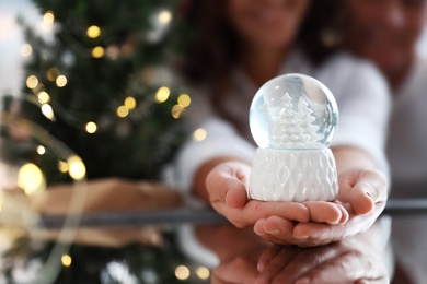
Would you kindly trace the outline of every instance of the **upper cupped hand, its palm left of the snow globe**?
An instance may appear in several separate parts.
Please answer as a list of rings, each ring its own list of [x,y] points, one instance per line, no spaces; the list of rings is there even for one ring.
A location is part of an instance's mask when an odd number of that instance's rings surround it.
[[[227,162],[216,166],[206,178],[211,205],[236,227],[251,226],[273,216],[289,224],[309,220],[327,224],[346,221],[346,211],[330,202],[318,204],[247,200],[250,169],[244,163]],[[319,214],[310,216],[311,211]],[[276,229],[279,227],[272,227],[272,230]]]

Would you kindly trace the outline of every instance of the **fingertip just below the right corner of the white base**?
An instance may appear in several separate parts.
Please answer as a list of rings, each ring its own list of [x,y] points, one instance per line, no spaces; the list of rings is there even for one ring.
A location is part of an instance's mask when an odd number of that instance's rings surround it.
[[[339,204],[326,201],[307,201],[303,204],[309,209],[310,221],[319,223],[338,224],[343,220]],[[346,221],[346,218],[344,218]]]

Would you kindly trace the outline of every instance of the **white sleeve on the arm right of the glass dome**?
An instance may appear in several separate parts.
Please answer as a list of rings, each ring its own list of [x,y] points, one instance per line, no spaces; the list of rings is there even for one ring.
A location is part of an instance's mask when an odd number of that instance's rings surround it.
[[[349,56],[341,59],[334,72],[328,72],[333,76],[323,79],[335,95],[339,111],[338,130],[331,146],[359,147],[389,175],[384,152],[391,105],[389,87],[370,63]]]

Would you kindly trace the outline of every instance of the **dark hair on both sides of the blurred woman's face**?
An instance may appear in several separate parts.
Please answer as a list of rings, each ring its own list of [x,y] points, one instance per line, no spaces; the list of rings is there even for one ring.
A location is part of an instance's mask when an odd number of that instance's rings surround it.
[[[188,82],[222,85],[239,58],[240,38],[228,22],[228,0],[186,0],[181,12],[193,29],[193,40],[184,51],[181,72]],[[336,47],[323,35],[337,29],[341,0],[312,0],[297,35],[299,46],[313,64],[320,64]]]

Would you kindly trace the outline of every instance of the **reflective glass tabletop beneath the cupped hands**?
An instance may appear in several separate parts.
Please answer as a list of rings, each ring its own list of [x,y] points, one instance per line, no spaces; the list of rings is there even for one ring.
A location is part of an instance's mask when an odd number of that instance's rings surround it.
[[[68,228],[73,230],[69,247],[56,255],[58,269],[45,273],[53,273],[55,283],[268,283],[268,279],[309,283],[301,275],[314,275],[322,280],[318,283],[365,283],[356,282],[362,277],[389,283],[391,274],[397,277],[393,283],[415,283],[396,268],[391,246],[383,240],[390,221],[424,221],[426,214],[427,200],[390,200],[367,233],[298,248],[266,244],[252,229],[234,228],[209,209],[83,213],[79,225]],[[5,283],[34,283],[58,245],[66,216],[49,214],[42,220],[45,229],[32,234],[31,240],[43,246],[19,246],[19,251],[2,256]],[[424,244],[413,245],[422,249]]]

